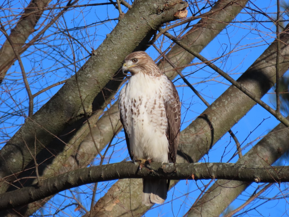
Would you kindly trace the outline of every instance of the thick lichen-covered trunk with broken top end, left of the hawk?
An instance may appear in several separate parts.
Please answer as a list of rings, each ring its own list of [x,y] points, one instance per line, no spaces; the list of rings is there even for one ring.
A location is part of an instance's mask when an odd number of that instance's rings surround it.
[[[94,55],[77,72],[77,77],[69,79],[58,93],[33,115],[32,119],[27,118],[25,124],[2,148],[0,177],[4,179],[10,174],[17,174],[31,162],[32,156],[25,142],[30,150],[34,150],[34,132],[38,140],[36,144],[38,154],[65,127],[78,124],[77,121],[85,117],[84,109],[87,115],[90,115],[94,98],[121,67],[125,56],[136,47],[145,46],[153,30],[162,23],[176,19],[174,14],[186,7],[187,3],[177,0],[135,1],[133,8],[123,16],[112,33],[94,51]],[[127,41],[131,43],[127,44]],[[126,46],[123,46],[124,44]],[[83,102],[79,97],[80,94]],[[10,177],[13,178],[14,176]],[[5,178],[5,181],[1,182],[0,192],[6,191],[8,180]]]

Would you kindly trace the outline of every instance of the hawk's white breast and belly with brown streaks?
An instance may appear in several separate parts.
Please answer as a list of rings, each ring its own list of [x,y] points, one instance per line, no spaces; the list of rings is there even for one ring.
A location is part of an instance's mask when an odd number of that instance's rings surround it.
[[[124,127],[127,131],[130,150],[136,158],[168,162],[168,139],[166,95],[170,94],[166,76],[152,77],[137,73],[132,76],[120,93]],[[125,112],[127,111],[127,112]]]

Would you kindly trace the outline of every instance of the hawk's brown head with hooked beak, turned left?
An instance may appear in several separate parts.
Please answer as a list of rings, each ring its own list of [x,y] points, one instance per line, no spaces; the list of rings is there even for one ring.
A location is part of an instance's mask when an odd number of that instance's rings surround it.
[[[122,70],[124,73],[129,71],[131,75],[137,73],[154,75],[162,73],[153,59],[144,51],[136,51],[129,54],[123,62]]]

